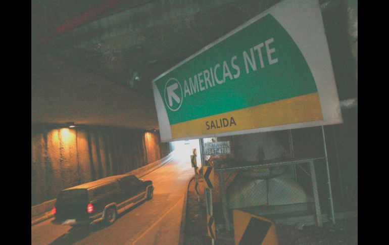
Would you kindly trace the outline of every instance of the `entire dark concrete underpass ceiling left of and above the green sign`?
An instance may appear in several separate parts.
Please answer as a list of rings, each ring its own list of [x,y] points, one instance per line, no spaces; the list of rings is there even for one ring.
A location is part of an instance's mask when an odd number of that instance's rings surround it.
[[[278,2],[32,1],[31,122],[158,128],[152,80]]]

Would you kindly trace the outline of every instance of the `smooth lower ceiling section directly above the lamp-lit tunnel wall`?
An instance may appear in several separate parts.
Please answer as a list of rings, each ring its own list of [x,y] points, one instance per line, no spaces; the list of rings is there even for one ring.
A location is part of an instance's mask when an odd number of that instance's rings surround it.
[[[157,128],[154,101],[73,65],[32,73],[31,121]],[[61,65],[60,65],[61,64]],[[60,66],[60,67],[58,67]],[[55,71],[54,71],[55,70]]]

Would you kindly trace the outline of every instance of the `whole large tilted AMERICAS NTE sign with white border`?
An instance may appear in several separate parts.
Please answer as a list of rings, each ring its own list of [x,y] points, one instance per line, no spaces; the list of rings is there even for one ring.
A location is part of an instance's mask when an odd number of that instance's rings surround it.
[[[285,0],[153,81],[162,141],[342,122],[317,0]]]

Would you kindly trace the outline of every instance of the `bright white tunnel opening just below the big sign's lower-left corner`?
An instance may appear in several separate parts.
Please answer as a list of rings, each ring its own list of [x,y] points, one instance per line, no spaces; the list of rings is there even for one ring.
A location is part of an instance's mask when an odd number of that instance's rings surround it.
[[[190,155],[193,155],[193,149],[197,150],[197,166],[201,166],[200,140],[180,140],[171,142],[171,148],[174,150],[174,157],[179,160],[190,161]]]

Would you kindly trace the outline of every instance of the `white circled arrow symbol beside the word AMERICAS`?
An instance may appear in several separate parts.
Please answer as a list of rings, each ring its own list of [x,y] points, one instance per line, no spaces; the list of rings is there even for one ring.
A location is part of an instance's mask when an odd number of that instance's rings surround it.
[[[175,78],[170,78],[165,85],[165,103],[173,112],[178,111],[182,105],[182,87]]]

